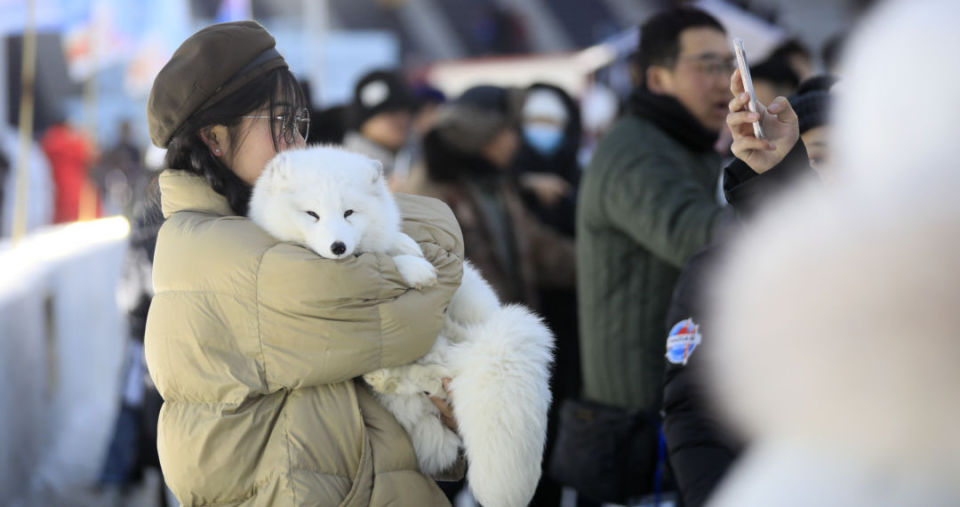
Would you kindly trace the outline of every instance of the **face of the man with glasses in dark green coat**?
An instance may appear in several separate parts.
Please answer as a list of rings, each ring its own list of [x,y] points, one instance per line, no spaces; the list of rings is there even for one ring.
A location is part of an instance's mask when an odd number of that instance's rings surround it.
[[[680,32],[680,51],[672,68],[663,68],[654,93],[672,95],[709,130],[719,131],[726,124],[730,94],[733,52],[727,36],[708,27],[688,28]],[[651,82],[651,85],[653,83]]]

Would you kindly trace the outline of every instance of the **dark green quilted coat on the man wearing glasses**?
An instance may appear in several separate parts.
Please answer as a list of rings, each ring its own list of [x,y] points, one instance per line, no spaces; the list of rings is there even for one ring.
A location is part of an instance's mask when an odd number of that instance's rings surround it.
[[[656,410],[674,283],[726,213],[716,134],[675,99],[651,95],[634,97],[584,173],[577,290],[584,395]]]

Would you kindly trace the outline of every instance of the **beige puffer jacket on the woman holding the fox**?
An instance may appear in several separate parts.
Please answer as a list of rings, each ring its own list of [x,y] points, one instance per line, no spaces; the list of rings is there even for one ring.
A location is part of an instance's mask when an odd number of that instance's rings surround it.
[[[158,449],[185,505],[447,505],[403,428],[359,375],[436,339],[462,274],[440,201],[398,196],[438,271],[407,288],[387,255],[343,261],[233,216],[205,180],[161,175],[146,355],[165,400]]]

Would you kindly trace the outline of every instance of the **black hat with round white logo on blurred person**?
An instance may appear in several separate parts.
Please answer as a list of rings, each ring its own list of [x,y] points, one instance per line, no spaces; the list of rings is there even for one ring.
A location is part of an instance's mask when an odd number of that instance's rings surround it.
[[[386,111],[412,110],[414,103],[399,72],[375,70],[360,78],[353,89],[351,126],[359,129],[367,120]]]

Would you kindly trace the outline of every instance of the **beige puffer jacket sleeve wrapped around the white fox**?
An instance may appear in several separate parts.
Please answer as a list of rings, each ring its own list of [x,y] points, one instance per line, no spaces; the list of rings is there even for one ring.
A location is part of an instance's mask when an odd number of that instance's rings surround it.
[[[342,382],[410,363],[433,346],[460,285],[463,238],[442,202],[414,196],[397,201],[404,232],[437,268],[434,287],[407,287],[385,254],[335,261],[281,243],[263,255],[258,333],[270,389]]]

